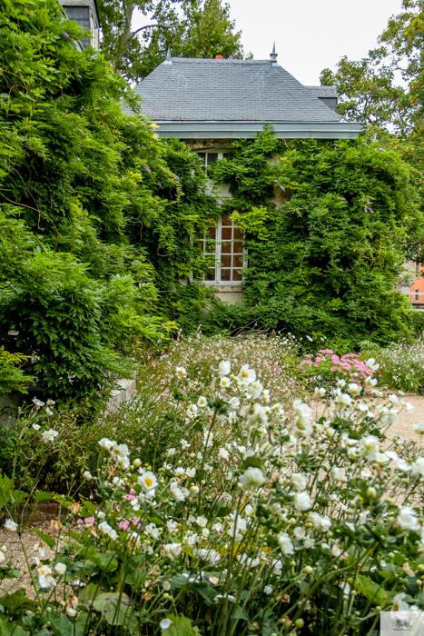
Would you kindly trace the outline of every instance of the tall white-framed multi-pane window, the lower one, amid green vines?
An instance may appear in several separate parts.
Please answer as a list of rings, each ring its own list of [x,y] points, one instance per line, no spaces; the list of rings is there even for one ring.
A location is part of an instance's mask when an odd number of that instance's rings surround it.
[[[217,225],[208,227],[199,246],[210,262],[205,283],[242,283],[243,234],[230,217],[220,217]]]

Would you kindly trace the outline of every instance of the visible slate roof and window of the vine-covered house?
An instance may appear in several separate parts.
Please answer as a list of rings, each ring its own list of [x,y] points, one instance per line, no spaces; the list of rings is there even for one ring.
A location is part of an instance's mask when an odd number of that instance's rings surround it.
[[[265,123],[283,139],[360,134],[360,124],[345,122],[336,112],[336,89],[302,85],[277,63],[275,45],[270,60],[182,58],[168,52],[134,90],[157,134],[184,141],[205,169],[231,152],[234,139],[253,138]],[[221,196],[230,193],[222,188]],[[241,300],[246,254],[240,230],[230,218],[220,218],[200,243],[211,261],[204,282],[228,303]]]

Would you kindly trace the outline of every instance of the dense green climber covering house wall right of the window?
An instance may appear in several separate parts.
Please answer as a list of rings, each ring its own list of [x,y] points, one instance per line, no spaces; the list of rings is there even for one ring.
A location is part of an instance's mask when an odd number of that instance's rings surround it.
[[[408,336],[394,284],[422,242],[415,171],[362,140],[288,147],[264,131],[234,145],[212,174],[230,184],[222,212],[246,233],[244,302],[258,323],[353,346]]]

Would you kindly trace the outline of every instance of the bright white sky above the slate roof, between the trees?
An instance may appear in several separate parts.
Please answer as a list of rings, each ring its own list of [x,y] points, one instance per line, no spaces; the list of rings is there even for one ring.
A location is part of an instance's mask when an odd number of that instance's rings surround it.
[[[228,0],[242,45],[255,59],[278,62],[301,84],[320,84],[320,71],[340,57],[365,57],[401,0]],[[133,28],[150,21],[134,16]]]

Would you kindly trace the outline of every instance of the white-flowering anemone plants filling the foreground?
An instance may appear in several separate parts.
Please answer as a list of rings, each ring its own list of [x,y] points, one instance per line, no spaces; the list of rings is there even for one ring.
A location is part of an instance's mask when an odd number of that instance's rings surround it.
[[[394,404],[409,404],[336,389],[334,410],[313,421],[305,402],[286,413],[239,369],[222,361],[201,398],[174,369],[173,408],[187,426],[159,470],[130,459],[125,443],[99,441],[103,461],[85,475],[97,501],[57,498],[69,516],[54,536],[35,531],[54,549],[45,559],[35,546],[37,598],[5,594],[1,621],[20,634],[359,635],[381,609],[421,606],[424,458],[401,458],[389,436]],[[13,508],[6,496],[8,516]],[[11,519],[5,527],[21,538]],[[0,571],[16,576],[6,559]]]

